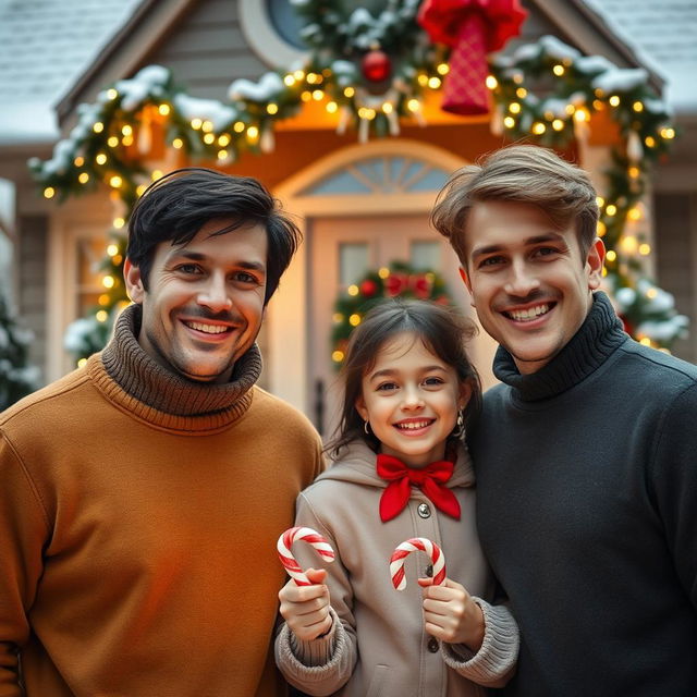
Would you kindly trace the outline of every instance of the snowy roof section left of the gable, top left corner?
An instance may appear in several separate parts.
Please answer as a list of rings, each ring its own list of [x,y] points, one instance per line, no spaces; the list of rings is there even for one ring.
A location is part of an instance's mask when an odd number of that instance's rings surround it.
[[[0,143],[54,140],[60,99],[142,0],[0,0]]]

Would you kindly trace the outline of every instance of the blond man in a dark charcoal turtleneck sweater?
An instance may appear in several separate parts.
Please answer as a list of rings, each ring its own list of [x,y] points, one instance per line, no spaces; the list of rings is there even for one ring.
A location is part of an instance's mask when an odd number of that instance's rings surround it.
[[[623,331],[597,220],[587,174],[525,145],[455,172],[432,215],[500,344],[468,443],[521,627],[504,693],[697,695],[697,367]]]

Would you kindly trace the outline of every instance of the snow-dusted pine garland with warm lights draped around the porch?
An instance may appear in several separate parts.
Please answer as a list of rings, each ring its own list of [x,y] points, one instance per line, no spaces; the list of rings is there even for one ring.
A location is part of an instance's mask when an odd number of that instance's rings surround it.
[[[191,97],[169,70],[149,65],[78,108],[77,125],[58,143],[52,158],[29,162],[47,198],[62,200],[107,185],[118,207],[117,252],[105,261],[103,280],[111,285],[105,286],[93,313],[105,327],[91,339],[83,337],[78,357],[101,343],[115,309],[126,302],[121,282],[125,241],[119,231],[142,191],[161,175],[148,158],[163,159],[172,169],[192,160],[225,167],[243,152],[269,152],[274,124],[309,101],[337,114],[340,133],[348,124],[355,127],[362,142],[369,133],[398,135],[400,119],[423,123],[423,91],[441,87],[449,51],[432,45],[418,26],[419,4],[387,0],[374,16],[365,8],[348,12],[343,3],[328,0],[294,0],[310,48],[304,64],[268,72],[256,83],[236,80],[227,102]],[[606,172],[609,187],[599,225],[609,249],[608,286],[634,335],[669,347],[686,333],[687,319],[668,302],[670,294],[644,278],[648,243],[626,233],[627,221],[640,215],[651,164],[675,136],[646,72],[621,71],[603,58],[583,57],[553,37],[519,46],[511,56],[494,56],[490,68],[492,129],[511,139],[563,148],[573,138],[587,138],[597,111],[606,110],[617,123],[623,146],[614,149]],[[623,289],[634,291],[632,303],[631,293],[620,293]],[[83,334],[89,333],[88,326],[81,325]],[[80,345],[78,334],[72,332],[71,345]]]

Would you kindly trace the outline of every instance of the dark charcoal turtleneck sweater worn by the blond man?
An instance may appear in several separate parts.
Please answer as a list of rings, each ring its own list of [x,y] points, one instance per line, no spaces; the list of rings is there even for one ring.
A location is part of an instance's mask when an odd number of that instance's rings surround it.
[[[482,547],[521,626],[506,695],[697,695],[697,367],[599,292],[543,368],[499,348],[469,447]]]

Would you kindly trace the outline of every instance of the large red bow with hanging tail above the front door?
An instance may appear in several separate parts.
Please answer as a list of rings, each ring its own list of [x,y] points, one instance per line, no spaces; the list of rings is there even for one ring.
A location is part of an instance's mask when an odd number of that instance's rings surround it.
[[[487,53],[517,36],[526,16],[518,0],[424,0],[418,23],[432,41],[452,48],[443,111],[488,113]]]

